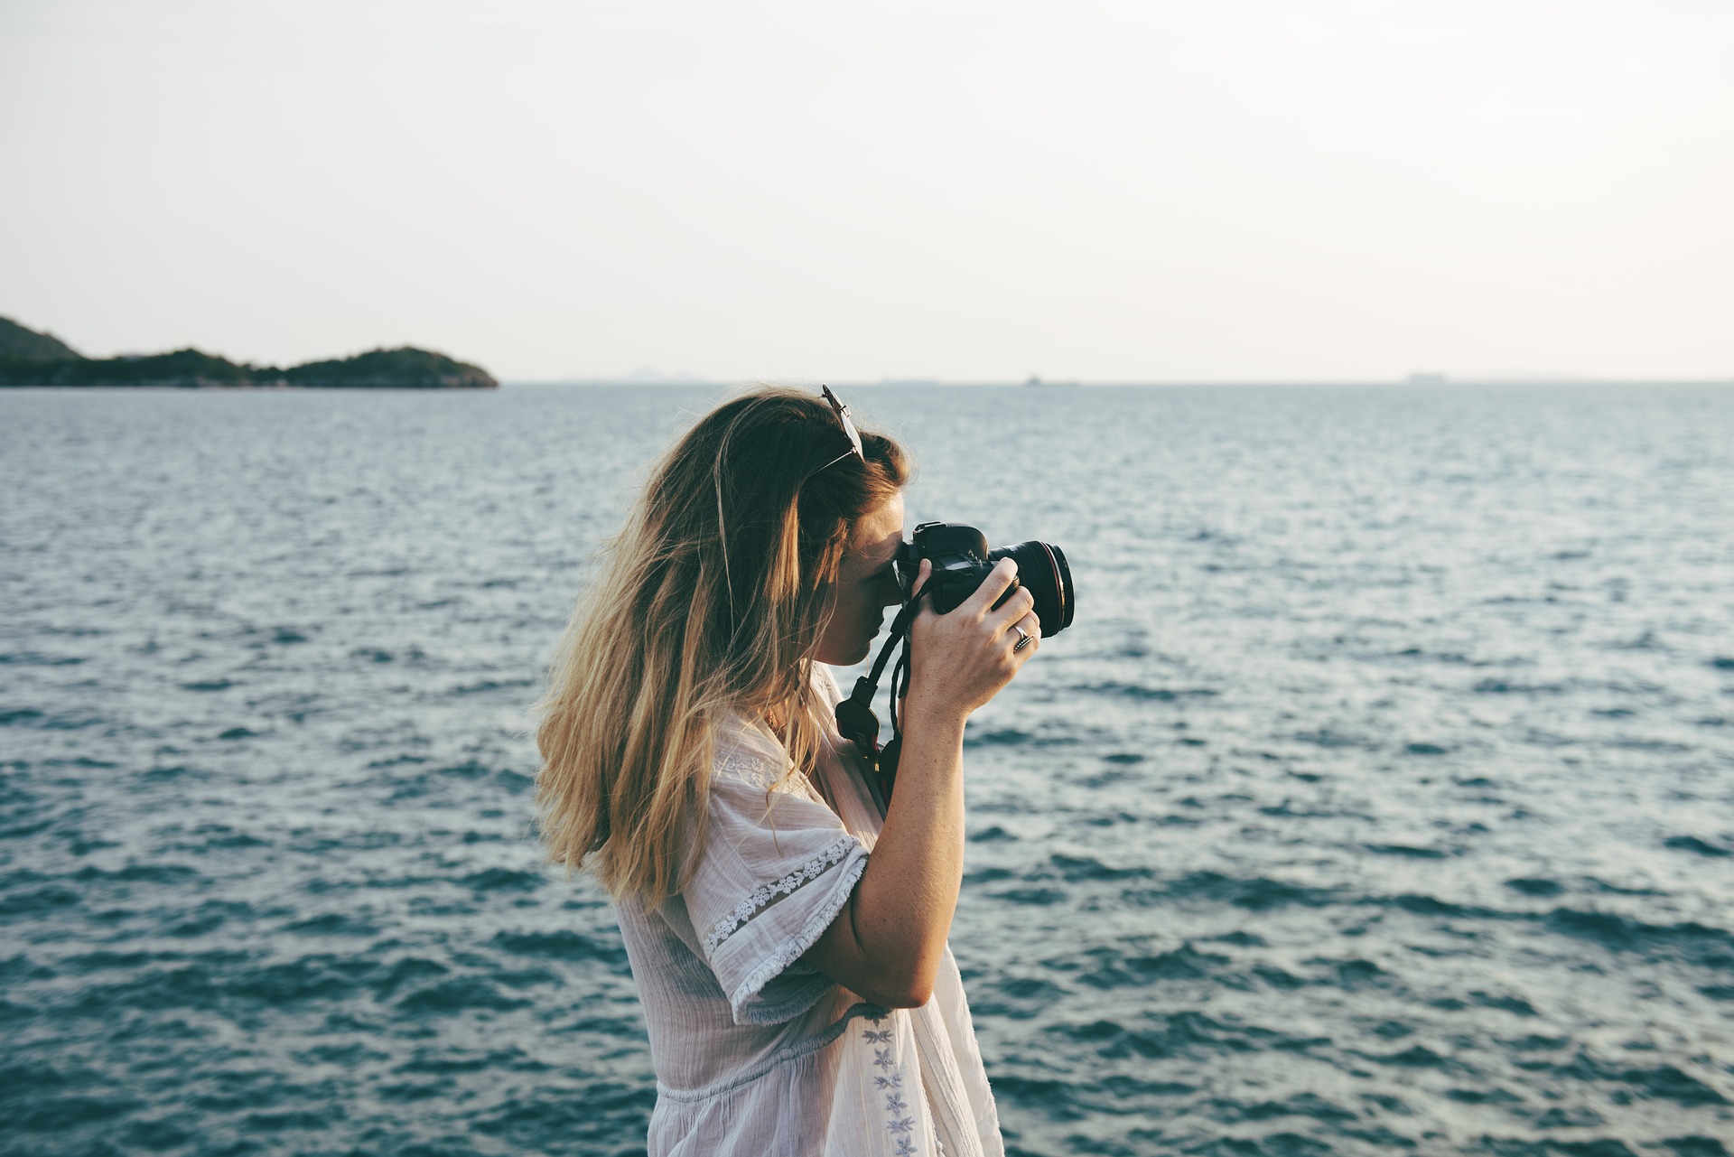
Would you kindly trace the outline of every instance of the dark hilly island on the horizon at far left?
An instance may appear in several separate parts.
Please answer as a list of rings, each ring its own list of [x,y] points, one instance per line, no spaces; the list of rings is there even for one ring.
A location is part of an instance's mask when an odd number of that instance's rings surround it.
[[[354,357],[310,361],[279,369],[251,366],[196,349],[172,354],[85,357],[50,333],[0,317],[0,387],[154,385],[179,389],[326,390],[494,390],[499,382],[480,366],[425,349],[376,349]]]

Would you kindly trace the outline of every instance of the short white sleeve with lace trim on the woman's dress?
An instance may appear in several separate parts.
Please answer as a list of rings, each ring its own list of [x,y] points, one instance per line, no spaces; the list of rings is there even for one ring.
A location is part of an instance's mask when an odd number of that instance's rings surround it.
[[[685,888],[699,951],[739,1025],[798,1016],[834,987],[796,964],[848,904],[867,848],[820,800],[772,789],[782,753],[718,739],[704,847]]]

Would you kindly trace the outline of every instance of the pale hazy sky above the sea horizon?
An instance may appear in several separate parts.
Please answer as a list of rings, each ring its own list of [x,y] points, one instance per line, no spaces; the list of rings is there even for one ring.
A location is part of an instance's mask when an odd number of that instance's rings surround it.
[[[512,380],[1734,376],[1727,0],[0,0],[0,316]]]

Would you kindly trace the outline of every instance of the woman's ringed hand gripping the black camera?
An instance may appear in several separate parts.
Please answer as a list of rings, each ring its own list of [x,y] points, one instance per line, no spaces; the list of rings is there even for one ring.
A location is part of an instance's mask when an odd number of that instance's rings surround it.
[[[922,559],[916,576],[917,595],[931,572],[933,562]],[[926,604],[916,614],[909,628],[907,715],[964,718],[999,694],[1037,652],[1042,624],[1032,609],[1035,597],[1030,590],[1020,586],[1002,607],[994,609],[1016,578],[1018,564],[1001,559],[981,586],[950,612],[938,614]],[[1018,628],[1030,642],[1013,650]]]

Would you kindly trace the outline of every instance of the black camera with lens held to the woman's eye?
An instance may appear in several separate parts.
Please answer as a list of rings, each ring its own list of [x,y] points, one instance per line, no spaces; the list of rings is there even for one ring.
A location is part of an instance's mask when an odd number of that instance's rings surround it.
[[[896,552],[896,581],[903,588],[907,602],[916,592],[916,571],[921,560],[933,560],[933,574],[928,578],[928,590],[933,592],[933,609],[945,614],[976,592],[987,579],[988,571],[1001,559],[1018,564],[1018,578],[1013,579],[999,602],[1011,598],[1018,586],[1028,586],[1035,595],[1035,618],[1042,621],[1042,635],[1058,635],[1072,626],[1075,595],[1072,592],[1072,567],[1066,565],[1065,553],[1053,543],[1030,539],[1016,546],[987,548],[987,536],[973,526],[955,522],[922,522],[916,527],[914,541],[903,543]]]

